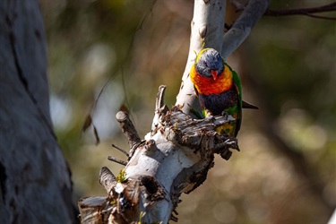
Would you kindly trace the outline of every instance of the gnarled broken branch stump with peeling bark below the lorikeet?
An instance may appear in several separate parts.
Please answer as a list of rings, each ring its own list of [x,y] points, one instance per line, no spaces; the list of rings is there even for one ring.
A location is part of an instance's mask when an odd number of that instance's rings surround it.
[[[82,223],[177,221],[171,213],[181,202],[179,196],[202,185],[208,170],[213,167],[214,154],[229,159],[232,153],[229,149],[238,150],[236,139],[215,131],[216,127],[228,123],[233,117],[193,119],[177,107],[168,109],[163,105],[164,90],[165,87],[160,86],[156,119],[145,141],[140,142],[125,112],[117,114],[134,153],[130,154],[125,171],[119,177],[108,168],[101,169],[99,181],[108,196],[90,197],[78,202]]]

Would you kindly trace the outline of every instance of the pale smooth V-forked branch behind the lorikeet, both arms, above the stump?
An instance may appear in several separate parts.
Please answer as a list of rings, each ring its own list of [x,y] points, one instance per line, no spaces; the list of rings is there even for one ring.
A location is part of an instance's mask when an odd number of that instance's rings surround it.
[[[195,0],[189,55],[175,104],[180,105],[185,114],[193,116],[191,108],[201,111],[195,96],[194,84],[189,79],[189,72],[194,64],[195,52],[199,52],[202,48],[202,41],[204,41],[204,47],[219,49],[226,59],[246,39],[254,24],[266,11],[270,1],[250,0],[237,22],[224,34],[226,1]]]

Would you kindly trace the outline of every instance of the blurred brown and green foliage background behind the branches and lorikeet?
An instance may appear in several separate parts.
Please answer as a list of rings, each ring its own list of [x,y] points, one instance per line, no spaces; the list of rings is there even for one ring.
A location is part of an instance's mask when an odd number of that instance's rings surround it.
[[[115,174],[127,142],[115,120],[128,108],[141,136],[155,96],[175,104],[189,47],[193,0],[40,0],[47,33],[50,106],[79,197],[106,194],[103,166]],[[271,9],[331,1],[272,1]],[[237,18],[229,5],[228,23]],[[335,16],[335,13],[324,15]],[[335,21],[264,16],[228,57],[241,76],[240,152],[216,158],[208,179],[177,207],[179,223],[325,223],[336,206]],[[108,83],[107,85],[105,85]],[[93,110],[92,130],[81,134]]]

